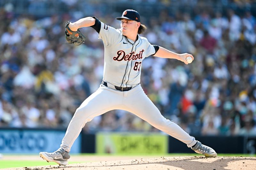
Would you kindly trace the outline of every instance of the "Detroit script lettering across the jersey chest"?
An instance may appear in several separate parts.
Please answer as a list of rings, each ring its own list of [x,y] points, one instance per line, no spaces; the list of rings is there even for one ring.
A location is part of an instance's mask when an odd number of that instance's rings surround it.
[[[144,52],[144,49],[142,49],[139,53],[135,54],[134,51],[132,51],[129,54],[125,54],[125,52],[123,50],[119,50],[117,51],[117,56],[113,57],[113,60],[115,61],[130,61],[130,60],[137,60],[137,59],[141,59],[143,58],[142,53]]]

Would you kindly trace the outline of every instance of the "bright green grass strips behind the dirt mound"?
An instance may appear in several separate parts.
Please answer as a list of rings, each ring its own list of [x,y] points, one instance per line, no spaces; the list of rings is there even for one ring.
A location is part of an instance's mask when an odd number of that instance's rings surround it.
[[[4,155],[11,155],[11,154],[4,154]],[[16,154],[16,156],[19,154]],[[71,154],[72,156],[73,154]],[[173,157],[173,156],[203,156],[197,153],[169,153],[169,154],[88,154],[88,153],[82,153],[82,154],[76,154],[74,156],[150,156],[150,157]],[[22,155],[21,155],[22,156]],[[225,153],[218,153],[218,156],[232,156],[232,157],[256,157],[256,155],[251,154],[225,154]],[[86,161],[80,161],[80,162],[73,162],[70,161],[68,164],[74,164],[74,163],[84,163]],[[29,166],[47,166],[47,165],[57,165],[55,162],[46,162],[45,160],[37,161],[37,160],[0,160],[0,168],[14,168],[14,167],[29,167]]]

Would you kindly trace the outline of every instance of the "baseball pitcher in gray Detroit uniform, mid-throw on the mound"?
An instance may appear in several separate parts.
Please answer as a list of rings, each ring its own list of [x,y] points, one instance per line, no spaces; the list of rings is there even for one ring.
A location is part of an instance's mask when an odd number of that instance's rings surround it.
[[[141,37],[139,34],[147,27],[140,23],[137,11],[125,10],[122,17],[116,19],[121,21],[120,29],[108,26],[96,17],[82,18],[66,24],[66,39],[71,44],[80,45],[85,41],[84,35],[79,31],[81,27],[91,26],[99,33],[99,39],[103,41],[105,48],[103,80],[99,89],[76,109],[60,148],[52,153],[40,152],[40,157],[48,162],[67,165],[72,144],[85,123],[114,109],[137,115],[155,128],[187,144],[196,153],[216,157],[217,153],[212,148],[201,144],[178,124],[164,118],[140,86],[141,65],[146,57],[153,55],[172,58],[185,64],[188,64],[187,57],[190,60],[194,57],[188,53],[177,54],[151,45],[145,37]]]

